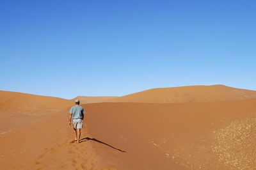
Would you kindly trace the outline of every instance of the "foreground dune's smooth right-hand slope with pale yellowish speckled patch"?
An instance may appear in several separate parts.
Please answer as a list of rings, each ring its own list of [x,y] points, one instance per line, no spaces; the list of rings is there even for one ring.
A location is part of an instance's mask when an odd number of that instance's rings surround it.
[[[255,169],[256,99],[189,104],[84,105],[88,132],[120,169]]]

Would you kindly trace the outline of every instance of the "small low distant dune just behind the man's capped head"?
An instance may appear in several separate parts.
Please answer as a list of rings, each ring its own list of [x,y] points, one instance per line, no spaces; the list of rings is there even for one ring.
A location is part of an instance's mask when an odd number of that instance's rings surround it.
[[[91,104],[91,103],[100,103],[100,102],[106,102],[107,100],[111,100],[118,97],[81,97],[78,96],[76,98],[73,98],[72,100],[79,99],[81,104]]]

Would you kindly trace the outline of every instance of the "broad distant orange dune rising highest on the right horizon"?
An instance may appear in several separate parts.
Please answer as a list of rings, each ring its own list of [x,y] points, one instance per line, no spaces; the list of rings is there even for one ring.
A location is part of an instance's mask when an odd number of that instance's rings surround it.
[[[114,98],[108,100],[108,102],[188,103],[243,100],[248,98],[256,98],[256,91],[214,85],[148,89],[124,97]]]

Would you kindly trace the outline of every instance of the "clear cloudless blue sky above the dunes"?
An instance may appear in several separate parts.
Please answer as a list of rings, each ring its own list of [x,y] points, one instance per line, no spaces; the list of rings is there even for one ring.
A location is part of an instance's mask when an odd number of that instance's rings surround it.
[[[256,90],[256,1],[1,1],[0,89],[74,98]]]

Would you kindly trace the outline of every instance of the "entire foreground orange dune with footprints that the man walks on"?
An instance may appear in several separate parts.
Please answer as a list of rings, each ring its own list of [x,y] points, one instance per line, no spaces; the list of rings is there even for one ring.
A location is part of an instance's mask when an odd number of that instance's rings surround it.
[[[0,135],[1,168],[256,167],[256,99],[189,104],[99,103],[83,107],[83,143],[72,143],[66,109]]]

